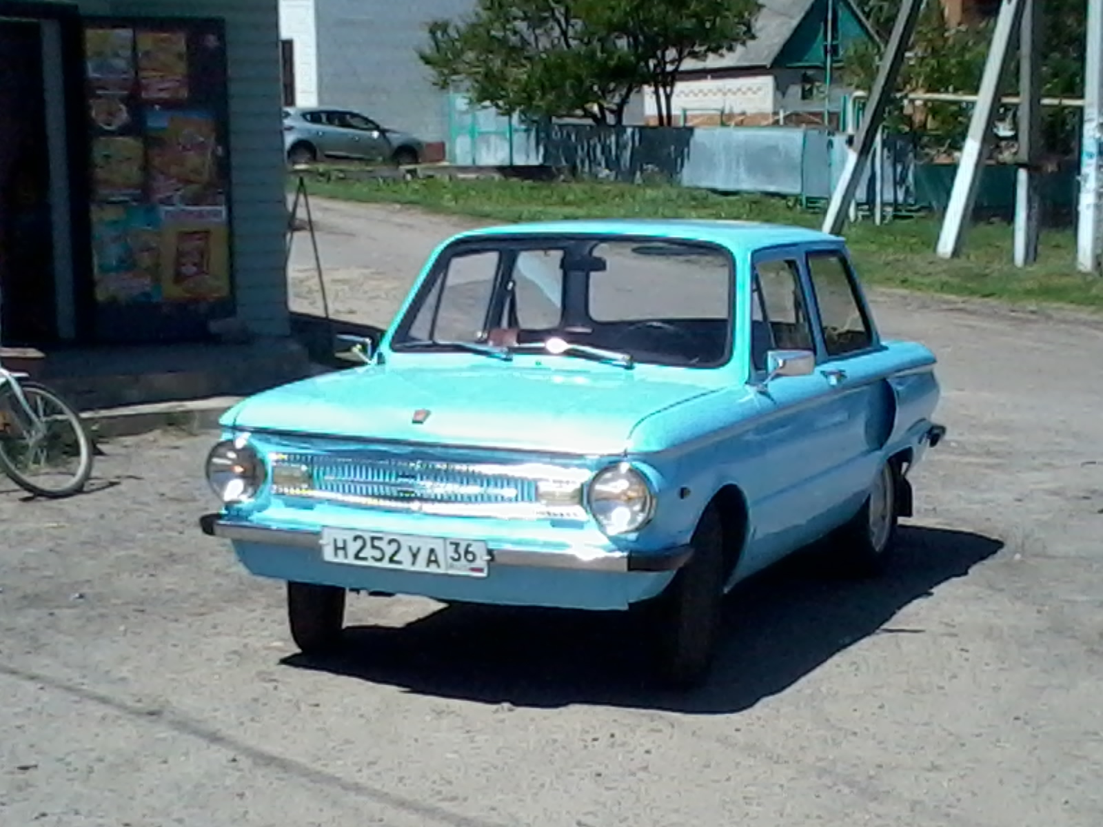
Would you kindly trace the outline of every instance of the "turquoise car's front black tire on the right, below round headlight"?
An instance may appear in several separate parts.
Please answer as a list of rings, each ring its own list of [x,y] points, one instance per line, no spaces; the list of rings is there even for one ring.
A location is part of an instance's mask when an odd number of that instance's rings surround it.
[[[704,684],[716,658],[726,567],[715,505],[702,515],[690,545],[693,557],[657,599],[653,614],[660,676],[679,690]]]

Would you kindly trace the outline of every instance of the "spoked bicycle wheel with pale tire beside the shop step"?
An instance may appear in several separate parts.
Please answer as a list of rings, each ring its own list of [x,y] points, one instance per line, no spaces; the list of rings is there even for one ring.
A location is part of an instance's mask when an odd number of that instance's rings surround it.
[[[35,496],[78,494],[92,476],[92,438],[81,415],[44,385],[19,386],[30,411],[11,385],[0,388],[0,470]]]

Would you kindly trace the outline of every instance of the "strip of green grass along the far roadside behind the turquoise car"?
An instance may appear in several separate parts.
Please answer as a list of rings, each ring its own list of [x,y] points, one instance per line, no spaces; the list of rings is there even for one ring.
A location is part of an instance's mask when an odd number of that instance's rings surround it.
[[[312,194],[377,204],[401,204],[433,213],[492,222],[556,218],[746,218],[817,227],[822,217],[784,198],[716,195],[668,185],[532,183],[495,180],[325,181]],[[934,255],[934,217],[897,219],[877,227],[868,218],[844,230],[863,279],[875,286],[997,299],[1016,304],[1071,304],[1103,309],[1103,278],[1075,268],[1071,230],[1042,234],[1039,261],[1011,264],[1011,228],[978,224],[965,253],[945,260]]]

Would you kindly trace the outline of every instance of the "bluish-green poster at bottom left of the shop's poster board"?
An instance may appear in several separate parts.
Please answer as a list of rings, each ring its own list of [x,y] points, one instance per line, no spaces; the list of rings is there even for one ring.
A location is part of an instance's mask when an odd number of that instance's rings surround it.
[[[92,211],[96,300],[160,299],[161,233],[157,211],[143,206],[96,205]]]

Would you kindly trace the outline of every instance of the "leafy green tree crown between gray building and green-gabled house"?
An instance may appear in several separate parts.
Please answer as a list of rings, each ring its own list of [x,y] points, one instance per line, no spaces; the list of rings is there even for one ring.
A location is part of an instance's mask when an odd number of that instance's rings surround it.
[[[435,20],[419,56],[442,89],[533,119],[622,123],[642,88],[673,121],[684,63],[750,36],[756,0],[479,0],[459,21]]]

